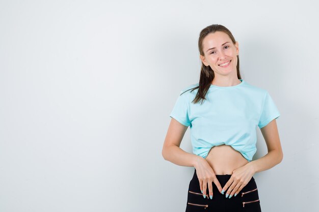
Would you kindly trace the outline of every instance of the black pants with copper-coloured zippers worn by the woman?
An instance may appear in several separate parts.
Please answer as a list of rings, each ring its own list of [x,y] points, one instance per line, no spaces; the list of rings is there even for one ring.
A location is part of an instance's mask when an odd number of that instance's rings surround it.
[[[194,168],[195,169],[195,168]],[[226,185],[231,174],[216,175],[222,188]],[[197,178],[196,169],[193,178],[190,181],[186,212],[200,212],[200,211],[216,211],[216,212],[261,212],[260,200],[258,196],[258,189],[254,177],[249,183],[238,193],[230,199],[226,198],[226,192],[221,194],[215,183],[212,183],[212,199],[209,198],[208,187],[206,190],[206,198],[200,191],[199,180]]]

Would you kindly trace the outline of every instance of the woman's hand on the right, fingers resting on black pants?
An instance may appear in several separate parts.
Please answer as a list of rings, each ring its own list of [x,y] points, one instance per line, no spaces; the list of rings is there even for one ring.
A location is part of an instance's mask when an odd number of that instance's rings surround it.
[[[234,194],[235,196],[249,183],[251,177],[255,174],[255,171],[250,163],[233,170],[230,179],[225,184],[223,190],[226,191],[226,198],[229,195],[231,198]],[[224,194],[224,192],[222,193]]]

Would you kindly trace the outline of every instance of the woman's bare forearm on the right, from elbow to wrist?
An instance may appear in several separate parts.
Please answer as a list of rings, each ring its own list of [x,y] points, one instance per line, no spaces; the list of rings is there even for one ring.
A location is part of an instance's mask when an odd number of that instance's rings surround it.
[[[257,160],[251,161],[248,164],[251,165],[253,167],[255,173],[257,173],[260,171],[268,170],[268,169],[276,166],[277,164],[279,164],[282,161],[282,158],[283,158],[282,152],[275,149],[275,150],[271,150],[263,157],[261,157]]]

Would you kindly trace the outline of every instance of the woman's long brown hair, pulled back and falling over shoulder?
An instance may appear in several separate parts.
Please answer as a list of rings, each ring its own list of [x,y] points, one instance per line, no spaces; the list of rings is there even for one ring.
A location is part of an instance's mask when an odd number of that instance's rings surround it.
[[[203,40],[204,38],[209,34],[209,33],[215,33],[215,32],[224,32],[226,33],[229,38],[231,39],[232,43],[235,44],[236,40],[234,39],[233,35],[231,34],[231,32],[229,31],[228,28],[226,28],[223,25],[220,24],[212,24],[210,26],[207,26],[205,28],[202,29],[202,31],[199,34],[199,39],[198,39],[198,50],[200,55],[204,56],[204,51],[203,51]],[[240,59],[239,59],[239,55],[237,55],[237,77],[238,79],[242,79],[241,77],[241,73],[240,73]],[[208,66],[208,77],[207,77],[207,71],[206,71],[206,66],[203,64],[201,65],[200,68],[200,78],[199,78],[199,85],[191,88],[191,92],[193,92],[193,90],[198,89],[198,92],[196,94],[195,99],[192,101],[194,104],[199,102],[200,100],[206,99],[206,93],[210,87],[210,84],[212,82],[212,80],[214,79],[215,74],[214,71],[210,68],[210,66]],[[190,90],[190,89],[188,89]],[[187,90],[185,90],[185,92],[187,92]],[[184,93],[184,92],[183,92]]]

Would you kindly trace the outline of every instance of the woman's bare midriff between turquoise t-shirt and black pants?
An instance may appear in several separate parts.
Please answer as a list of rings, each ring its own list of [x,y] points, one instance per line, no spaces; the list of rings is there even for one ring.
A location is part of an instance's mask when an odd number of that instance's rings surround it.
[[[233,170],[249,163],[244,156],[230,145],[211,147],[205,160],[215,174],[232,174]]]

